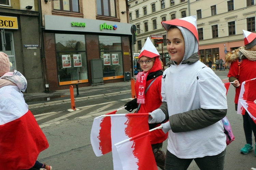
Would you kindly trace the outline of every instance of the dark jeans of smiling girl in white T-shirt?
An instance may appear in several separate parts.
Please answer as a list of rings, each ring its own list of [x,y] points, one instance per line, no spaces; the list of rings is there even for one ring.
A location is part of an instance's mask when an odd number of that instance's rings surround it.
[[[214,156],[204,156],[194,158],[200,170],[223,170],[226,150]],[[166,151],[165,170],[186,170],[191,164],[192,159],[181,159]]]

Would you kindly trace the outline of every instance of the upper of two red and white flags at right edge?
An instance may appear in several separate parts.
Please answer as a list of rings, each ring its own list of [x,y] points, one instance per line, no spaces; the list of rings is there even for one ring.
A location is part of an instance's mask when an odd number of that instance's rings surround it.
[[[239,99],[247,100],[247,101],[254,101],[256,99],[255,88],[256,88],[256,78],[244,81],[241,84],[241,91],[239,94]],[[238,102],[237,114],[244,115],[244,113],[245,113],[244,107],[242,106],[241,102]]]

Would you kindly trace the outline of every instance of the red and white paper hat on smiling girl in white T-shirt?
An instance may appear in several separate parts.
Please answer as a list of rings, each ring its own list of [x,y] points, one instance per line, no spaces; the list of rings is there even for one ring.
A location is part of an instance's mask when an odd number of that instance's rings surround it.
[[[168,27],[170,25],[184,27],[184,28],[188,29],[189,31],[191,31],[198,41],[196,16],[189,16],[189,17],[184,17],[184,18],[180,18],[180,19],[162,21],[161,23],[162,23],[163,27],[165,27],[166,31],[168,30]]]

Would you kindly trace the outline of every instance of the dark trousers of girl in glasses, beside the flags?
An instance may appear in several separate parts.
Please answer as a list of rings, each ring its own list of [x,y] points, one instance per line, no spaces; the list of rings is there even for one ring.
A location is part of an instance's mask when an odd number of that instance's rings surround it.
[[[156,143],[151,145],[154,156],[155,156],[155,160],[156,160],[156,165],[161,168],[164,169],[165,168],[165,152],[161,151],[163,146],[163,143]]]

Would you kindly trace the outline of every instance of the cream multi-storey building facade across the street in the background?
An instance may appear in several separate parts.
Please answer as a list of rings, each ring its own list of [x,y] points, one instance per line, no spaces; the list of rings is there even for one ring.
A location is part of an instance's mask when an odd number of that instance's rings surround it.
[[[189,1],[189,2],[188,2]],[[137,2],[137,4],[136,4]],[[165,0],[165,8],[161,9],[161,1],[155,0],[130,0],[129,12],[132,14],[130,23],[138,25],[142,30],[137,34],[137,41],[142,41],[142,47],[146,37],[151,34],[165,35],[166,31],[161,27],[162,17],[171,19],[171,14],[176,14],[176,18],[181,18],[181,11],[186,11],[186,16],[195,15],[197,10],[201,10],[202,18],[197,19],[197,28],[203,28],[203,40],[199,40],[199,49],[219,48],[219,56],[225,56],[224,50],[230,51],[232,48],[243,46],[243,32],[247,30],[246,18],[255,17],[255,5],[248,6],[246,0],[233,0],[234,10],[228,11],[228,1],[216,0],[174,0],[175,5],[170,5],[170,0]],[[151,11],[151,5],[156,4],[156,12]],[[211,6],[216,5],[216,15],[211,14]],[[147,7],[147,15],[143,15],[143,7]],[[139,10],[139,18],[136,18],[136,10]],[[153,30],[152,19],[157,19],[157,29]],[[148,32],[144,31],[144,22],[148,22]],[[235,21],[235,35],[229,35],[228,22]],[[218,37],[213,38],[212,26],[218,25]],[[154,42],[152,40],[152,42]],[[226,49],[224,49],[226,44]],[[134,45],[134,52],[140,52],[138,44]],[[156,47],[161,54],[161,45]],[[167,53],[166,46],[163,46],[163,53]]]

